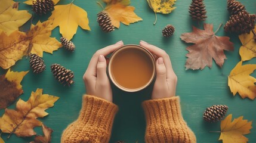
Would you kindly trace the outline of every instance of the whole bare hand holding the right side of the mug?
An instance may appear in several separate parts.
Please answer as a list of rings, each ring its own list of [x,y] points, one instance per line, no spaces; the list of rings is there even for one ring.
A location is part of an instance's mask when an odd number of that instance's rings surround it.
[[[156,55],[156,81],[152,91],[152,99],[174,97],[177,76],[174,73],[169,55],[163,50],[147,42],[140,41],[140,45]]]

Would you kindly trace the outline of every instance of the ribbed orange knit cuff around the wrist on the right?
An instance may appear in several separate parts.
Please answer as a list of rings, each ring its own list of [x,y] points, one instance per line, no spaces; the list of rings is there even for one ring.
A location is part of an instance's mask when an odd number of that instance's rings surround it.
[[[180,97],[147,100],[142,105],[148,123],[162,123],[163,120],[177,123],[176,121],[183,120]]]

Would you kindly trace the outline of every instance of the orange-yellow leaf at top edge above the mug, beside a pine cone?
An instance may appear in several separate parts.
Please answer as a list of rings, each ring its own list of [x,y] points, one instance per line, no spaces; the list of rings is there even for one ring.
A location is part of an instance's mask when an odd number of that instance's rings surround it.
[[[120,22],[125,25],[141,21],[142,18],[134,13],[135,8],[128,6],[129,0],[104,0],[106,2],[105,11],[109,14],[113,26],[119,28]]]

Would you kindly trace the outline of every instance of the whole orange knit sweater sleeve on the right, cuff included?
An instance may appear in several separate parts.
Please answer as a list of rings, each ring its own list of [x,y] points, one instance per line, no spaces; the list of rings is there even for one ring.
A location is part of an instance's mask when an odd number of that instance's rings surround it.
[[[147,100],[143,108],[147,122],[146,142],[196,142],[195,134],[182,117],[179,97]]]

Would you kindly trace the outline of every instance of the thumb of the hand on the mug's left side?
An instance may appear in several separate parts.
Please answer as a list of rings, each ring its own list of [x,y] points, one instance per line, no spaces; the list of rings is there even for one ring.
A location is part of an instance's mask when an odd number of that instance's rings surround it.
[[[98,57],[98,63],[97,63],[97,82],[106,82],[107,81],[107,63],[105,60],[105,57],[103,55],[100,55]]]

